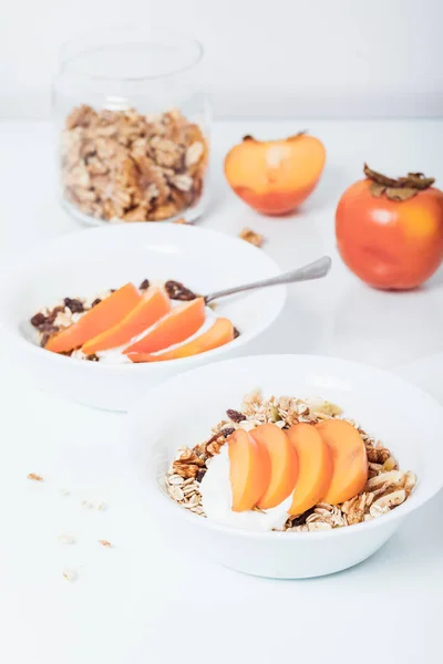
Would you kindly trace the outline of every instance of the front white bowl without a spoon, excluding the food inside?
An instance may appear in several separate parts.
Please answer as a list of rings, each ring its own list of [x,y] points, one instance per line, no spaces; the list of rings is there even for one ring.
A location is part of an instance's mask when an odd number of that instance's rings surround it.
[[[164,474],[177,447],[209,436],[226,408],[245,393],[322,396],[344,408],[393,452],[401,468],[419,478],[411,497],[388,515],[348,528],[318,532],[254,533],[210,522],[176,505],[164,491]],[[443,407],[419,387],[384,371],[332,357],[258,355],[187,372],[151,391],[130,412],[134,475],[145,489],[146,510],[161,523],[222,564],[272,578],[329,574],[374,553],[403,520],[443,486]]]

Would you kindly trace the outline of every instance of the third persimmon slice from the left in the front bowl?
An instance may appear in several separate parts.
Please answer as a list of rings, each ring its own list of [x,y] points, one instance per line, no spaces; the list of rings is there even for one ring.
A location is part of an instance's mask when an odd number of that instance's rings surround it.
[[[323,498],[332,479],[332,453],[311,424],[299,423],[287,432],[298,454],[300,471],[289,513],[301,515]]]

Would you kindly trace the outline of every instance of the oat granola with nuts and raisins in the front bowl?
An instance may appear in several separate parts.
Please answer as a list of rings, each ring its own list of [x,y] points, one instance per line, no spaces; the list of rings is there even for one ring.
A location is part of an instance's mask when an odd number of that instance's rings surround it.
[[[229,408],[226,416],[213,427],[210,438],[193,448],[177,450],[165,478],[171,498],[202,517],[206,515],[199,483],[213,457],[237,428],[251,430],[260,424],[272,423],[285,429],[297,423],[315,425],[323,419],[343,418],[341,408],[330,402],[290,396],[264,400],[260,390],[246,395],[241,408]],[[399,469],[391,452],[380,440],[371,437],[354,421],[344,419],[359,432],[367,449],[369,473],[364,489],[342,504],[319,502],[302,515],[290,516],[284,526],[285,531],[331,530],[369,521],[404,502],[414,489],[415,475],[411,470]]]

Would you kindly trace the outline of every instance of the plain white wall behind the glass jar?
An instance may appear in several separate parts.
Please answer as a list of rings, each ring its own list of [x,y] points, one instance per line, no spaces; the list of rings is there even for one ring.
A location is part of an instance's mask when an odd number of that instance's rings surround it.
[[[443,115],[441,0],[3,0],[0,116],[47,116],[60,44],[122,23],[199,39],[219,116]]]

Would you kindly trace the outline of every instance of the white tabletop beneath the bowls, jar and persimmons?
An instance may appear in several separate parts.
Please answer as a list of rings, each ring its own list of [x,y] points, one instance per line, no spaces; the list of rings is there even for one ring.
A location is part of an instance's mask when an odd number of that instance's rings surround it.
[[[229,191],[222,156],[246,133],[279,136],[306,126],[328,148],[317,191],[298,216],[257,216]],[[323,282],[291,287],[278,324],[250,352],[364,361],[443,402],[443,271],[416,292],[378,292],[346,270],[333,241],[338,197],[364,159],[442,183],[442,137],[437,121],[215,126],[214,200],[202,226],[262,232],[264,250],[282,269],[324,252],[334,261]],[[0,251],[76,230],[55,200],[50,126],[3,122],[0,145]],[[230,572],[193,556],[192,542],[168,542],[157,531],[126,461],[124,415],[31,390],[0,352],[0,662],[441,662],[442,495],[347,572],[306,581]],[[45,483],[29,481],[31,471]],[[71,495],[61,496],[62,488]],[[109,509],[85,510],[83,499]],[[60,544],[62,533],[78,542]],[[102,548],[101,538],[114,548]],[[75,583],[63,580],[65,567],[79,572]]]

